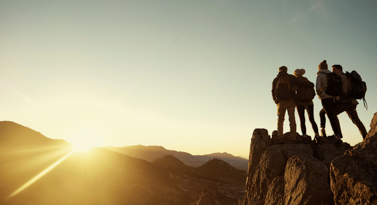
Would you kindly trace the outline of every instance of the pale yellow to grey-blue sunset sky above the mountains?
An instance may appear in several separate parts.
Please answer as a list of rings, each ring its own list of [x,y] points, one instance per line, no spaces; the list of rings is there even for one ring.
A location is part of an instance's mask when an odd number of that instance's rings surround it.
[[[278,67],[315,82],[326,59],[367,82],[358,113],[369,130],[376,10],[374,0],[0,0],[0,120],[72,143],[248,157],[253,130],[276,129]],[[360,142],[339,119],[344,141]]]

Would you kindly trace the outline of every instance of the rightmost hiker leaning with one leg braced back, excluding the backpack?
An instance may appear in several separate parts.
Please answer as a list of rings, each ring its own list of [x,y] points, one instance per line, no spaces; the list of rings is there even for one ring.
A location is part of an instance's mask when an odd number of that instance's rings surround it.
[[[348,117],[352,120],[352,122],[356,125],[356,127],[359,129],[359,132],[363,139],[365,139],[367,135],[367,131],[365,129],[364,124],[361,122],[356,107],[357,100],[350,95],[351,93],[351,83],[349,82],[348,76],[343,72],[343,68],[341,65],[333,65],[332,66],[333,73],[336,73],[342,78],[342,95],[336,97],[337,101],[335,103],[334,107],[334,113],[336,115],[339,115],[342,112],[346,112],[348,114]],[[321,122],[323,121],[323,127],[325,127],[326,118],[325,118],[325,111],[321,110],[320,112],[320,118]]]

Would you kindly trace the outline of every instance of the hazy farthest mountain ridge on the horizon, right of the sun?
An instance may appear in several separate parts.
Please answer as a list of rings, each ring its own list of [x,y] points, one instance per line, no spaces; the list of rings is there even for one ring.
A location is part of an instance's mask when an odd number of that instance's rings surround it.
[[[167,150],[161,146],[126,146],[126,147],[106,147],[112,151],[119,152],[128,156],[132,156],[139,159],[144,159],[149,162],[153,162],[158,158],[162,158],[166,155],[174,156],[183,163],[192,167],[199,167],[212,159],[223,160],[237,169],[247,171],[248,160],[235,157],[228,153],[213,153],[208,155],[191,155],[187,152],[179,152],[174,150]]]

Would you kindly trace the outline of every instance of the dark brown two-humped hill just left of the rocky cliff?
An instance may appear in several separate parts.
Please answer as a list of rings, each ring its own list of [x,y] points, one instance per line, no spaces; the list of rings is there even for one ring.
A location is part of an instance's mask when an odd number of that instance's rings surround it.
[[[199,201],[206,198],[209,202],[215,199],[216,204],[237,204],[245,194],[246,171],[238,170],[219,159],[210,160],[200,167],[190,167],[174,156],[167,155],[152,164],[167,170],[182,190],[189,195],[199,196]]]

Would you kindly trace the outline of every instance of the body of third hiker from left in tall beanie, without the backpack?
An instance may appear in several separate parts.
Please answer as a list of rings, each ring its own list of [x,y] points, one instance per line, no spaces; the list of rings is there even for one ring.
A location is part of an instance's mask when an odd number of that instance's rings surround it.
[[[342,133],[340,130],[339,119],[334,112],[335,107],[335,96],[331,96],[325,92],[327,88],[327,75],[331,73],[328,70],[326,60],[322,61],[318,65],[317,80],[316,80],[316,91],[318,98],[321,100],[323,109],[325,110],[327,117],[330,120],[332,130],[334,131],[334,137],[336,139],[341,139]],[[321,122],[321,127],[322,127]],[[325,137],[324,127],[322,127],[322,137]]]

